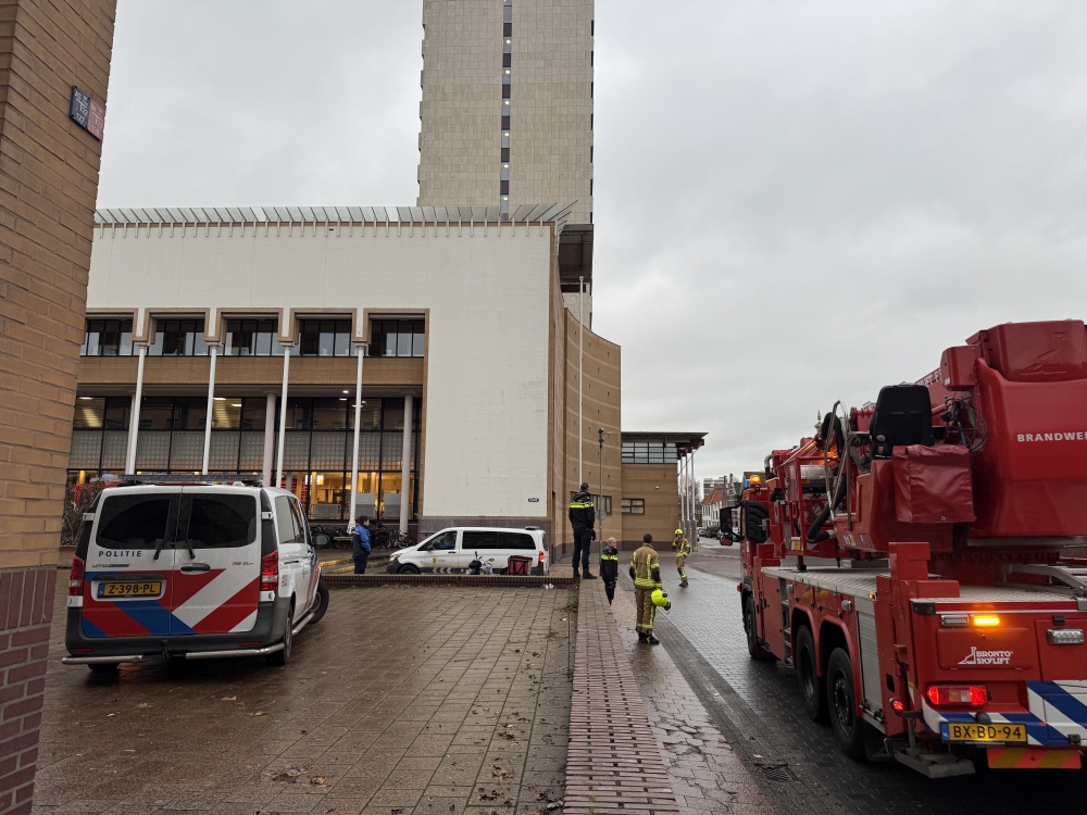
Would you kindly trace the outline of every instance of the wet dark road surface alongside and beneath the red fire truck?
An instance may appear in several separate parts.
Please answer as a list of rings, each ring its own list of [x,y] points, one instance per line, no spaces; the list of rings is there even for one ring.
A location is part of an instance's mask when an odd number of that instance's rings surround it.
[[[847,758],[828,726],[801,712],[796,678],[775,663],[748,657],[740,617],[738,552],[700,541],[687,562],[690,586],[678,587],[671,553],[661,553],[664,582],[675,598],[658,614],[658,634],[687,681],[752,772],[787,764],[791,780],[775,782],[778,813],[934,813],[1032,815],[1087,812],[1087,770],[983,772],[939,781],[898,764]]]

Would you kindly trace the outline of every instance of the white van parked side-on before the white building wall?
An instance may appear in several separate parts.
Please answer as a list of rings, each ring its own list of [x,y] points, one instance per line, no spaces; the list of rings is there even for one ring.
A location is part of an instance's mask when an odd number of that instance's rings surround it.
[[[542,529],[457,526],[396,552],[389,559],[388,572],[393,575],[466,574],[468,564],[478,557],[489,561],[496,573],[504,573],[510,555],[532,557],[530,574],[546,575],[550,569],[547,535]]]

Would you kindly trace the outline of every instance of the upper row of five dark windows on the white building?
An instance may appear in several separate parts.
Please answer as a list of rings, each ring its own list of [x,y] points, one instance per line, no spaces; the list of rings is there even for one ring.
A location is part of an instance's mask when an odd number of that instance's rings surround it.
[[[274,318],[226,321],[226,356],[283,356]],[[371,322],[371,356],[422,356],[425,344],[422,319],[374,319]],[[155,319],[150,356],[207,356],[202,319]],[[132,319],[88,319],[83,356],[133,356]],[[350,319],[301,319],[299,341],[292,356],[353,356]]]

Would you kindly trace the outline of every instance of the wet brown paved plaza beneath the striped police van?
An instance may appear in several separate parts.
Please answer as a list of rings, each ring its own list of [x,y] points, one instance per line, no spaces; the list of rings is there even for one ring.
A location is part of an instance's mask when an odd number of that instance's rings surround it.
[[[60,664],[64,595],[41,815],[524,815],[564,794],[570,590],[337,589],[285,667],[145,663],[114,680]]]

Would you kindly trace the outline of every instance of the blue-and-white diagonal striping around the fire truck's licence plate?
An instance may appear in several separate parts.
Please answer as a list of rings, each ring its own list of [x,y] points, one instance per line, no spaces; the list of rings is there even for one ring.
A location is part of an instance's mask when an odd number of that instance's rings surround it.
[[[1087,681],[1027,681],[1026,690],[1029,710],[999,713],[986,711],[989,723],[1025,725],[1027,745],[1073,747],[1078,754],[1079,745],[1087,745]],[[940,740],[945,742],[950,741],[951,724],[977,722],[973,713],[937,711],[924,699],[921,705],[925,726],[939,734]],[[997,749],[999,748],[989,748],[990,751]]]

